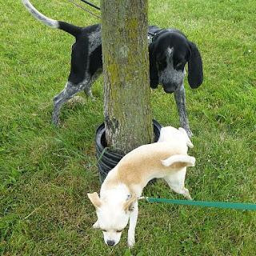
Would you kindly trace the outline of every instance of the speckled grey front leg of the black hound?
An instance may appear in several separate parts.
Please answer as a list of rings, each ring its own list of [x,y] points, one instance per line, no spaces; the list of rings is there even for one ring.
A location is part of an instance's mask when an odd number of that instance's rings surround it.
[[[186,130],[186,133],[192,137],[193,134],[190,130],[190,125],[186,114],[186,94],[184,85],[180,86],[174,91],[174,98],[178,108],[179,123]]]

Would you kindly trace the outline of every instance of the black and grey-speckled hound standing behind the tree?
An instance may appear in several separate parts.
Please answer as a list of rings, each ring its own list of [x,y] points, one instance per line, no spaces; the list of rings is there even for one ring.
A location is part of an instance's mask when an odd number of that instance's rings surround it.
[[[75,94],[84,90],[87,97],[93,98],[90,88],[99,74],[102,74],[101,26],[96,24],[79,27],[56,21],[38,12],[30,1],[22,2],[39,22],[64,30],[76,38],[72,46],[69,79],[62,92],[54,97],[52,122],[58,124],[63,104]],[[198,48],[179,30],[162,30],[158,26],[149,26],[149,32],[154,34],[149,42],[150,86],[156,88],[161,84],[167,94],[174,93],[180,125],[187,134],[192,135],[186,115],[184,77],[185,65],[188,62],[188,81],[191,88],[197,88],[202,84],[202,59]]]

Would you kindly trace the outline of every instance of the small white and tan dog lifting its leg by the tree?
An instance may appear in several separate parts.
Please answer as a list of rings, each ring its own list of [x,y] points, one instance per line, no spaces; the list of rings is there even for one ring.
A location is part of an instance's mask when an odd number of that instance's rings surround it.
[[[194,166],[195,158],[187,154],[187,146],[193,144],[186,130],[163,127],[158,142],[132,150],[110,170],[102,183],[100,198],[96,192],[88,194],[98,216],[94,228],[102,230],[107,245],[115,246],[120,241],[129,219],[128,246],[134,245],[137,198],[152,178],[164,178],[172,190],[192,200],[184,181],[186,166]]]

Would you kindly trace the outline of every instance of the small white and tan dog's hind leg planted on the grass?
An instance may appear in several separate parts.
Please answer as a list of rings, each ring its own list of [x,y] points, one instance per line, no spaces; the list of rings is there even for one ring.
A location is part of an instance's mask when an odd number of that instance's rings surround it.
[[[178,173],[170,174],[166,176],[164,179],[170,186],[172,190],[174,190],[178,194],[182,194],[185,198],[189,200],[193,200],[190,196],[189,190],[184,186],[186,176],[186,167],[182,170],[178,171]]]

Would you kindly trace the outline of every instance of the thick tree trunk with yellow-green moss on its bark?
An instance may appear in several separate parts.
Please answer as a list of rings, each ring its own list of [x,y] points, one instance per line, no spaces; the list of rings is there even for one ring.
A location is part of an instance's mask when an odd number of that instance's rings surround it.
[[[101,0],[106,143],[126,154],[154,140],[147,0]]]

